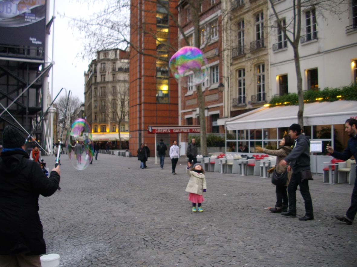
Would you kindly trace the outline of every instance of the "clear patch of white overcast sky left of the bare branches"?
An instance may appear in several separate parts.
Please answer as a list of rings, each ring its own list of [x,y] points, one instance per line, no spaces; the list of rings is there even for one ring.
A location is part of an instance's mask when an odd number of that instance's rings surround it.
[[[53,14],[54,0],[50,0],[50,14]],[[59,14],[66,14],[69,17],[75,17],[77,14],[85,16],[92,14],[88,5],[78,4],[73,0],[56,0],[56,19],[54,31],[51,29],[49,36],[49,59],[52,57],[52,34],[54,32],[54,67],[53,67],[53,96],[56,96],[59,90],[64,87],[72,91],[73,96],[78,96],[84,102],[84,76],[83,73],[88,69],[90,59],[82,60],[76,55],[81,52],[83,39],[79,33],[69,27],[69,19],[61,17]],[[51,75],[50,72],[50,93],[51,93]],[[65,93],[62,92],[61,95]]]

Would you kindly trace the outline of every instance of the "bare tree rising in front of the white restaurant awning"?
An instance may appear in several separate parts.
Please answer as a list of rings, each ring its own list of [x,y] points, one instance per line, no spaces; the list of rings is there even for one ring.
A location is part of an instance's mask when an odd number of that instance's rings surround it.
[[[297,112],[298,124],[303,127],[303,113],[304,113],[304,98],[302,91],[302,75],[300,69],[300,55],[299,55],[299,43],[301,38],[301,11],[308,7],[319,7],[320,15],[323,16],[323,12],[332,12],[340,15],[346,12],[346,9],[341,9],[340,5],[346,2],[346,0],[292,0],[293,16],[286,21],[286,24],[282,24],[282,17],[279,16],[275,9],[276,0],[269,0],[271,9],[276,18],[277,27],[281,29],[286,36],[287,41],[290,43],[293,53],[297,78],[297,96],[299,103],[299,110]],[[276,27],[276,26],[272,26]],[[313,34],[313,33],[311,33]]]

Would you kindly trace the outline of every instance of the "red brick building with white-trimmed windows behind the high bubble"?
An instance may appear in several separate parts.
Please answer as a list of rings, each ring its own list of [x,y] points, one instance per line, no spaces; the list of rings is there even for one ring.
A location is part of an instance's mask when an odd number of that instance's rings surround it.
[[[190,45],[193,45],[193,10],[189,1],[192,0],[180,1],[178,16]],[[205,101],[206,131],[223,133],[223,127],[217,126],[217,119],[223,117],[223,92],[218,89],[218,85],[225,83],[222,79],[221,1],[203,0],[198,8],[200,9],[200,48],[207,58],[209,70],[208,79],[201,84]],[[187,45],[181,34],[178,38],[180,47]],[[186,80],[189,79],[188,75]],[[188,87],[187,84],[180,84],[179,113],[181,125],[200,125],[196,86]],[[186,141],[185,137],[187,136],[181,136],[182,142]]]

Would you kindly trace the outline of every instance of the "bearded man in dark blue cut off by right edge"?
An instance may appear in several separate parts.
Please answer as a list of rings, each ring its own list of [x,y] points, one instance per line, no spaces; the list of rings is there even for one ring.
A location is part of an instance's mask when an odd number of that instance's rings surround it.
[[[336,152],[331,146],[327,146],[327,152],[331,154],[332,157],[342,159],[346,161],[350,157],[354,157],[357,160],[357,120],[348,119],[345,122],[345,131],[350,136],[350,139],[347,142],[347,147],[343,153]],[[357,167],[356,167],[356,177],[357,177]],[[357,213],[357,180],[355,181],[355,186],[352,190],[351,196],[351,206],[348,208],[344,216],[335,215],[337,220],[343,221],[348,225],[351,225],[355,219]]]

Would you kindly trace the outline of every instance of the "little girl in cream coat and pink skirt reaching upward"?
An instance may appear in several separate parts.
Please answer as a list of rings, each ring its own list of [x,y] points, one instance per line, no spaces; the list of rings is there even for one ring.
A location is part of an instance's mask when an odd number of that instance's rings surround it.
[[[187,162],[187,174],[190,176],[188,181],[186,192],[188,194],[188,200],[192,202],[192,212],[196,212],[196,203],[198,203],[198,211],[203,212],[202,202],[205,200],[203,198],[203,192],[206,192],[206,178],[205,171],[202,169],[200,163],[193,164],[192,168],[191,162]]]

